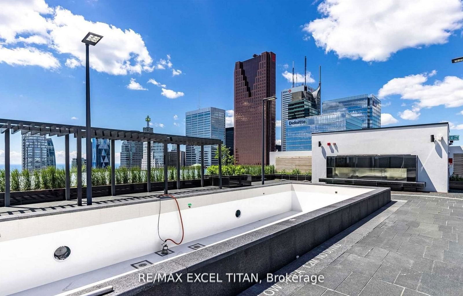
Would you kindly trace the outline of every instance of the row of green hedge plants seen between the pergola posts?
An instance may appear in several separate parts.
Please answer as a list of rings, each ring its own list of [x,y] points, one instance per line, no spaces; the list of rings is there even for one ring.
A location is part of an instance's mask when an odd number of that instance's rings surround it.
[[[70,185],[77,187],[77,168],[70,170]],[[175,181],[177,177],[176,167],[168,167],[168,180]],[[82,185],[86,184],[85,166],[82,167]],[[118,167],[114,170],[116,184],[144,183],[147,179],[147,171],[139,167]],[[200,179],[200,166],[183,166],[181,167],[181,180]],[[151,168],[151,182],[164,181],[164,168]],[[54,166],[46,167],[42,170],[33,172],[13,169],[10,173],[11,191],[29,191],[40,189],[59,189],[64,188],[66,182],[66,171],[64,168]],[[92,186],[110,185],[111,184],[111,167],[92,168]],[[0,192],[5,191],[5,170],[0,170]]]

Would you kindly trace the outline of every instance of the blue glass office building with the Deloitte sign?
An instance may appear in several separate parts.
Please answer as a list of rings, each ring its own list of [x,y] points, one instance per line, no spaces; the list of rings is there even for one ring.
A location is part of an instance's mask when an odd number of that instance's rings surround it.
[[[286,121],[286,151],[312,150],[312,133],[362,129],[362,120],[349,113],[330,113]]]

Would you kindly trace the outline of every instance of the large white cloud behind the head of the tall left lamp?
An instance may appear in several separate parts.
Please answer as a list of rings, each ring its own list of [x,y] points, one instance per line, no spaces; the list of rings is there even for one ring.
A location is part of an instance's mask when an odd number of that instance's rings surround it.
[[[49,7],[44,0],[0,1],[1,62],[54,69],[59,68],[60,54],[68,67],[83,65],[85,46],[80,38],[88,31],[104,36],[90,50],[90,67],[96,71],[126,75],[153,70],[143,38],[131,29],[88,21],[61,6]]]

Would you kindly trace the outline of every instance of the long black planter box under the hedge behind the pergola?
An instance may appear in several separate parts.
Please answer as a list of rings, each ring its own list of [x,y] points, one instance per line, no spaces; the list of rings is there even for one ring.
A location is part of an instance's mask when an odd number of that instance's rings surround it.
[[[210,186],[211,181],[204,179],[204,185]],[[181,188],[194,188],[201,186],[201,179],[181,180]],[[177,181],[168,181],[168,190],[177,189]],[[82,187],[82,199],[85,200],[87,187]],[[151,182],[151,191],[163,191],[164,182]],[[116,195],[147,192],[145,183],[117,184]],[[71,200],[77,199],[77,188],[70,188]],[[92,197],[111,196],[111,185],[92,186]],[[46,203],[65,200],[65,189],[42,189],[31,191],[12,191],[10,192],[10,203],[12,206],[31,203]],[[0,192],[0,207],[5,206],[5,193]]]

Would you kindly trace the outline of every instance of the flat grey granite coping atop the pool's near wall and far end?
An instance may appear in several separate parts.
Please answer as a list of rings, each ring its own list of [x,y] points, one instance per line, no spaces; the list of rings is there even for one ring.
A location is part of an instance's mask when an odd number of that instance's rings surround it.
[[[169,283],[168,284],[157,283],[157,282],[143,283],[139,281],[139,276],[138,276],[139,273],[144,273],[144,274],[151,273],[154,275],[158,273],[185,274],[187,272],[194,272],[195,270],[198,270],[206,265],[210,265],[211,263],[214,263],[220,259],[224,259],[234,253],[244,251],[257,244],[268,241],[278,235],[285,234],[288,231],[291,231],[295,228],[299,228],[307,223],[314,222],[324,216],[343,210],[344,208],[348,206],[361,203],[369,199],[369,197],[381,195],[382,201],[381,202],[378,201],[378,204],[372,205],[373,209],[364,209],[366,214],[360,213],[360,216],[363,216],[363,217],[368,216],[369,214],[373,213],[375,210],[380,209],[383,205],[387,204],[391,200],[390,199],[390,188],[375,188],[375,187],[367,187],[367,186],[326,185],[326,184],[313,184],[313,183],[298,182],[298,181],[288,181],[288,182],[276,183],[276,184],[271,184],[271,185],[258,185],[258,186],[253,186],[251,188],[270,187],[270,186],[277,186],[277,185],[290,184],[290,183],[291,184],[346,187],[346,188],[363,188],[363,189],[372,189],[372,191],[357,195],[355,197],[348,198],[338,203],[333,203],[331,205],[325,206],[318,210],[313,210],[311,212],[302,214],[300,216],[296,216],[294,221],[290,221],[288,219],[282,222],[278,222],[278,223],[269,225],[267,227],[251,231],[250,233],[242,234],[235,238],[225,240],[218,244],[208,246],[208,247],[203,247],[198,250],[194,250],[193,252],[187,253],[180,257],[169,259],[167,261],[164,261],[164,262],[161,262],[155,265],[144,267],[142,269],[131,272],[129,274],[125,274],[121,277],[117,277],[112,280],[109,280],[109,281],[94,285],[92,287],[80,290],[78,292],[69,294],[69,296],[79,296],[84,293],[88,293],[90,291],[97,290],[97,289],[100,289],[108,285],[112,285],[114,287],[113,292],[106,294],[110,296],[113,296],[113,295],[120,295],[120,296],[154,295],[149,291],[151,288],[153,288],[153,286],[158,285],[158,284],[169,285]],[[231,189],[227,191],[240,191],[240,190],[245,190],[245,189],[250,189],[250,187]],[[224,192],[224,191],[220,191],[220,192]],[[217,192],[214,192],[214,194],[215,193]],[[369,205],[368,202],[367,204]],[[360,211],[362,211],[362,209],[360,209]],[[357,221],[361,220],[363,217],[361,217]],[[342,223],[342,221],[340,223]],[[351,225],[352,224],[350,224],[349,226]],[[332,236],[327,237],[325,240],[331,237]],[[175,287],[172,288],[171,286],[169,290],[172,290],[172,289],[174,290],[175,289],[185,289],[185,287],[181,287],[179,285],[176,288]],[[178,290],[178,293],[175,293],[175,294],[185,295],[185,294],[189,294],[189,292],[190,291],[187,292],[186,290]]]

